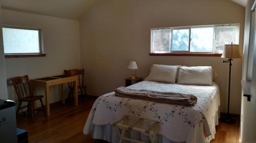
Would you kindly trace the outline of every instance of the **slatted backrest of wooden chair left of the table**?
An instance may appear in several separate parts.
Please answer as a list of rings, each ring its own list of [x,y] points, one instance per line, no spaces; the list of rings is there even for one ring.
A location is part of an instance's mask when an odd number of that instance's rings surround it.
[[[11,79],[12,79],[12,84],[14,86],[16,94],[18,96],[18,99],[31,95],[32,91],[31,91],[28,75],[13,77]]]

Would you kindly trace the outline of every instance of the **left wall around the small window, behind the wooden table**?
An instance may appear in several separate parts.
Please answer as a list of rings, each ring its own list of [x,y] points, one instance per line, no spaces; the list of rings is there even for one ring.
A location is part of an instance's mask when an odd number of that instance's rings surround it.
[[[65,69],[80,68],[79,22],[76,20],[2,10],[3,24],[41,28],[46,57],[11,58],[6,60],[7,79],[28,74],[39,78],[63,74]],[[42,88],[37,94],[45,95]],[[50,103],[59,101],[60,86],[50,87]],[[16,99],[12,84],[8,98]]]

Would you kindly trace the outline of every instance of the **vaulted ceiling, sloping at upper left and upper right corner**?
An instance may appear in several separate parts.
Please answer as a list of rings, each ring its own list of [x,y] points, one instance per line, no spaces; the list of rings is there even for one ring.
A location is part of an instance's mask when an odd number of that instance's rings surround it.
[[[0,0],[3,9],[79,20],[99,0]],[[129,1],[129,0],[128,0]],[[248,0],[230,0],[246,6]]]

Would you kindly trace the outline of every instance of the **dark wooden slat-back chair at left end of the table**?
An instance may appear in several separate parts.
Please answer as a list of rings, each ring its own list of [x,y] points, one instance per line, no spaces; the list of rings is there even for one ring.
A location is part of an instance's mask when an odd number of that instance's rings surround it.
[[[32,117],[32,122],[33,122],[34,102],[36,100],[40,100],[42,110],[44,111],[44,114],[46,116],[45,106],[44,106],[44,103],[42,103],[42,97],[44,97],[44,96],[42,96],[42,95],[34,96],[33,95],[32,88],[31,88],[31,85],[29,82],[29,76],[28,75],[18,76],[18,77],[13,77],[11,79],[12,79],[12,84],[14,86],[16,94],[18,96],[18,101],[19,101],[16,114],[19,112],[20,109],[27,107],[27,112],[29,112],[29,109],[31,110],[31,117]],[[21,107],[23,102],[28,102],[28,105]]]

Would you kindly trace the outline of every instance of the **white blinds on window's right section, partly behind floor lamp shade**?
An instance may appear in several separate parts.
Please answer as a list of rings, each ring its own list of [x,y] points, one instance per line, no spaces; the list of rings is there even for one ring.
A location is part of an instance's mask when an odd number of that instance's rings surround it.
[[[222,53],[225,44],[239,44],[239,25],[216,26],[215,53]]]

